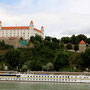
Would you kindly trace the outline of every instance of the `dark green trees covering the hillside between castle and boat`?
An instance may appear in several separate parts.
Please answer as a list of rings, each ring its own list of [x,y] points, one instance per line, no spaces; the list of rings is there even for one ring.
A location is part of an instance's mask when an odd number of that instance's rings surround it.
[[[85,35],[75,37],[79,38],[78,42],[88,40]],[[86,39],[84,39],[85,37]],[[18,71],[85,71],[86,68],[89,69],[90,49],[84,53],[66,51],[64,44],[77,44],[77,41],[73,36],[73,39],[68,37],[71,39],[70,41],[63,38],[59,40],[46,36],[43,39],[38,35],[32,36],[29,43],[33,43],[34,47],[10,48],[0,56],[0,69],[4,70],[4,65],[8,66],[8,70]]]

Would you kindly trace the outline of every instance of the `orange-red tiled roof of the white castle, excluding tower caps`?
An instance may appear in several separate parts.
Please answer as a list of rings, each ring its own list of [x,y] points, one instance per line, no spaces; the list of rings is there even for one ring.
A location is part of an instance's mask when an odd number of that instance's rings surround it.
[[[29,26],[17,26],[17,27],[2,27],[1,30],[20,30],[20,29],[29,29]],[[40,30],[34,28],[35,31],[42,33]]]

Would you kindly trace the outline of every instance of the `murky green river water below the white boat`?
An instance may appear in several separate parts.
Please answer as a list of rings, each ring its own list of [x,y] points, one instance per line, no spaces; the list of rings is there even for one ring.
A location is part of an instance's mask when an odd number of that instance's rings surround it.
[[[42,83],[42,82],[0,82],[0,90],[90,90],[90,84]]]

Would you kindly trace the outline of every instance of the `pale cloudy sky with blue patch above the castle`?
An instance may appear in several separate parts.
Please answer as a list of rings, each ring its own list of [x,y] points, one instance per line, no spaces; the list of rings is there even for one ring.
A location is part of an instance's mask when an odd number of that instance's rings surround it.
[[[90,37],[90,0],[0,0],[3,26],[44,26],[45,36]]]

